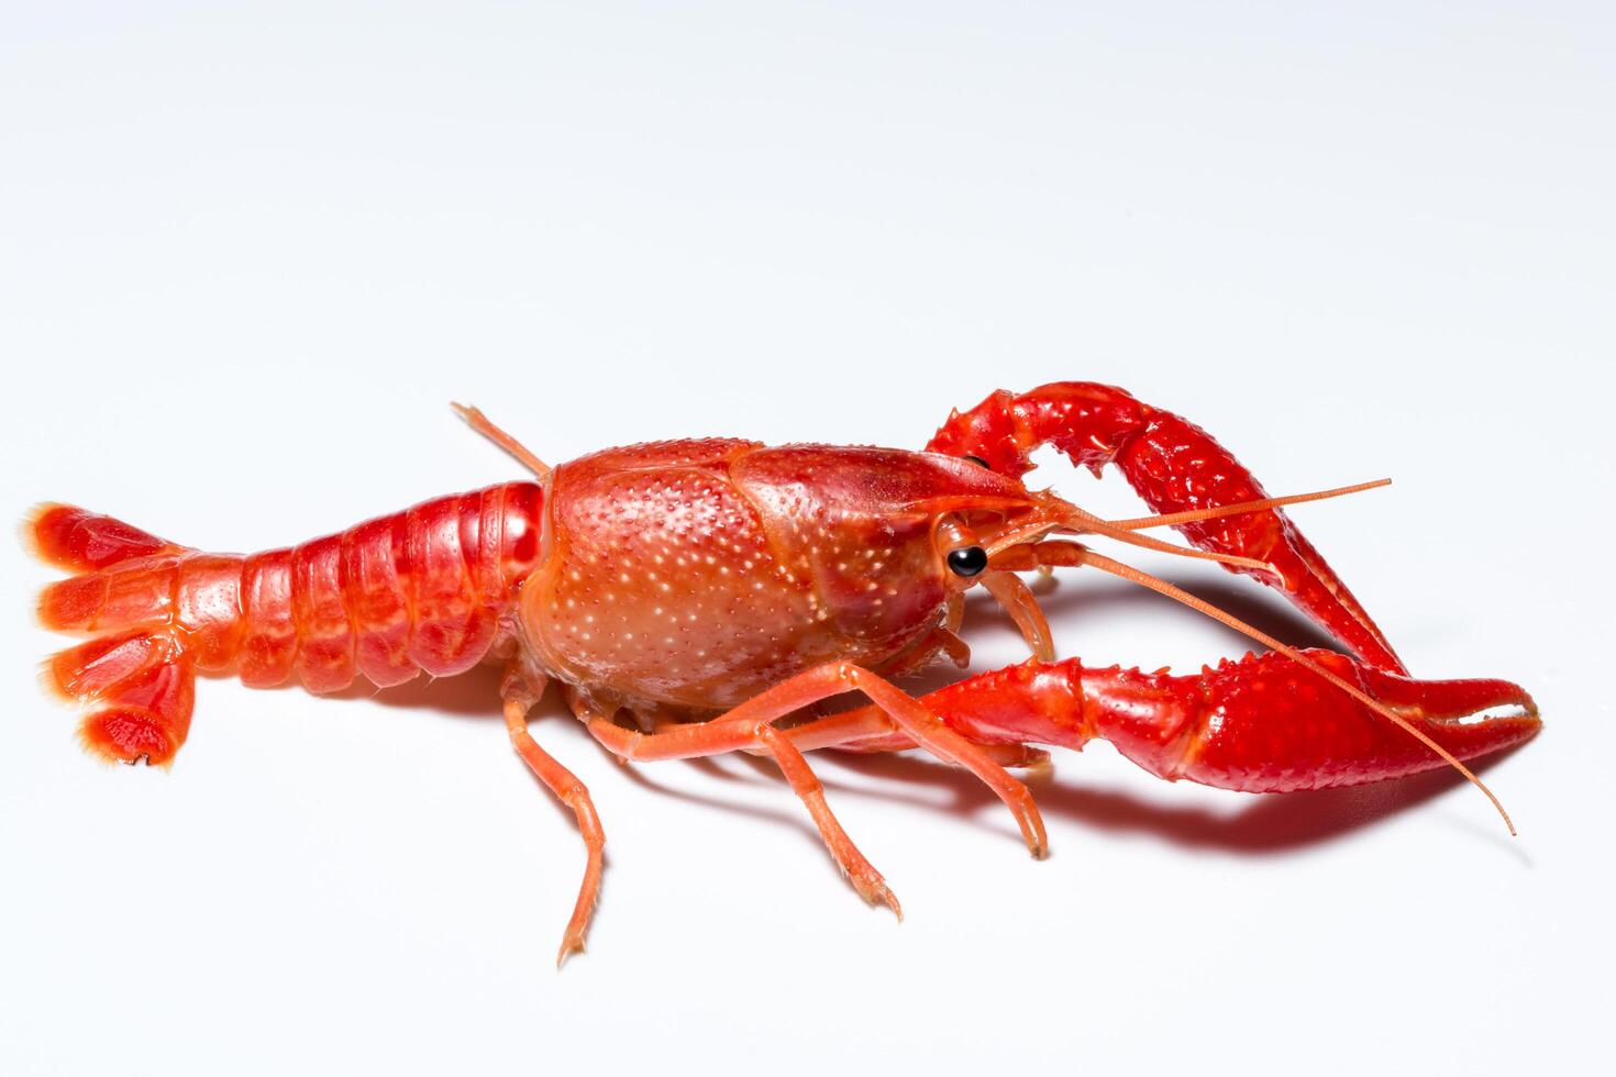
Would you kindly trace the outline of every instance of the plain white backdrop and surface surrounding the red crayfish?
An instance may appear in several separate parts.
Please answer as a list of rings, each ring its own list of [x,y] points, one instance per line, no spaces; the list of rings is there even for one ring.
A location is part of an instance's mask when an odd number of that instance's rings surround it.
[[[1330,8],[3,5],[3,512],[267,547],[516,478],[449,399],[562,460],[918,447],[1102,379],[1277,492],[1395,476],[1296,515],[1417,673],[1517,680],[1548,727],[1485,769],[1519,840],[1446,775],[1252,798],[1096,744],[1037,786],[1047,862],[970,780],[816,757],[898,925],[768,767],[619,769],[546,701],[609,856],[558,974],[582,846],[491,673],[208,681],[171,773],[100,767],[8,549],[0,1071],[1600,1066],[1610,6]],[[1244,649],[1105,578],[1049,606],[1096,662]],[[1025,654],[968,630],[978,668]]]

